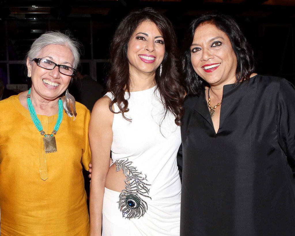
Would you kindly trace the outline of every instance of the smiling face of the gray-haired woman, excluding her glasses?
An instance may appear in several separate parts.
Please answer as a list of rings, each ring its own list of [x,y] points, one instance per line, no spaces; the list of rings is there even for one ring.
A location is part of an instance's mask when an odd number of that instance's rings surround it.
[[[73,67],[73,54],[69,47],[63,45],[47,45],[37,58],[44,58],[59,65]],[[67,89],[71,76],[59,72],[58,66],[53,70],[41,68],[37,63],[32,64],[27,59],[28,74],[32,78],[32,90],[43,99],[53,100],[61,96]]]

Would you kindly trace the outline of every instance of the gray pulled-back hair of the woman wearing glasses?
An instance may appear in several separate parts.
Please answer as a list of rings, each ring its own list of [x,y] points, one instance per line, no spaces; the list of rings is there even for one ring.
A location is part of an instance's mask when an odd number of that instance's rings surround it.
[[[39,38],[37,38],[31,48],[27,53],[26,59],[29,58],[30,63],[32,64],[32,60],[37,58],[40,51],[46,47],[47,45],[64,45],[69,47],[74,58],[73,67],[76,69],[80,63],[80,43],[74,39],[69,32],[65,32],[65,34],[59,31],[48,31],[42,34]]]

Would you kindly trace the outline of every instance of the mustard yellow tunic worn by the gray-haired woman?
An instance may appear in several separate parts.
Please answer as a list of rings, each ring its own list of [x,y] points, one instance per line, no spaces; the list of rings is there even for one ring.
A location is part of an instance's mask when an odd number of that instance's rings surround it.
[[[0,101],[1,236],[89,235],[82,164],[88,170],[89,110],[76,102],[77,117],[63,113],[57,152],[45,154],[43,137],[19,95]],[[58,115],[38,115],[50,134]]]

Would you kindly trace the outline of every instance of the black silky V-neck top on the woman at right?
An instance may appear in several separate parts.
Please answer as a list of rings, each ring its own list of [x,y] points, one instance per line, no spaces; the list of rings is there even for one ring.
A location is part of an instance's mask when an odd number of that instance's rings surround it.
[[[182,121],[181,236],[295,235],[294,86],[225,85],[217,134],[204,92]]]

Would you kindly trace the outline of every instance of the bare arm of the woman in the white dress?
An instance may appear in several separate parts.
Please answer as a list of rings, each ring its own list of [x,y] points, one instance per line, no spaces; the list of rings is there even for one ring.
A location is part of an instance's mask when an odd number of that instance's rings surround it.
[[[109,110],[110,99],[99,99],[92,110],[89,122],[89,143],[92,154],[90,188],[90,235],[101,235],[102,204],[104,186],[109,170],[111,145],[113,142],[112,124],[114,114]]]

